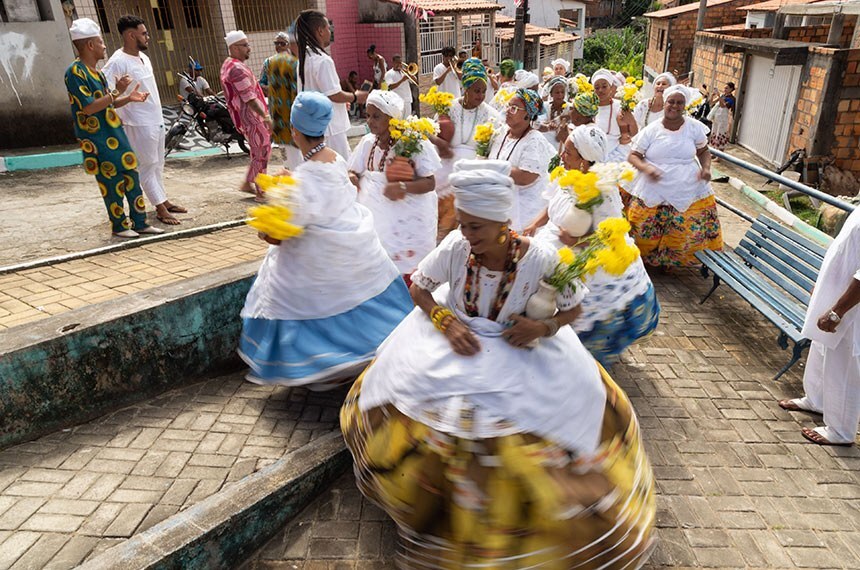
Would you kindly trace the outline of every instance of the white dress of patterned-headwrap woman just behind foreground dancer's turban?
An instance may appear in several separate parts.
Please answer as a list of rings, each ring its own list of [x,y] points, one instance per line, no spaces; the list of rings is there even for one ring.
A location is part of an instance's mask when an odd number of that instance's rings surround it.
[[[514,187],[514,213],[512,228],[522,231],[546,206],[544,190],[549,182],[549,161],[555,156],[555,149],[549,145],[543,133],[529,129],[525,135],[515,139],[507,136],[507,126],[493,135],[490,146],[491,159],[507,160],[511,167],[537,174],[537,179],[525,186]]]

